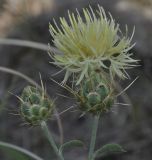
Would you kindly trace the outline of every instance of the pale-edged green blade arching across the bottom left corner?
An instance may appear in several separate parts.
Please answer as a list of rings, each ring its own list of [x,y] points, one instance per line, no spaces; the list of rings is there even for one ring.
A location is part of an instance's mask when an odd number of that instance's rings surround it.
[[[12,160],[43,160],[37,155],[13,144],[0,141],[0,150]]]

